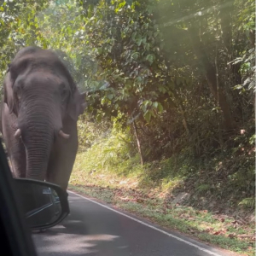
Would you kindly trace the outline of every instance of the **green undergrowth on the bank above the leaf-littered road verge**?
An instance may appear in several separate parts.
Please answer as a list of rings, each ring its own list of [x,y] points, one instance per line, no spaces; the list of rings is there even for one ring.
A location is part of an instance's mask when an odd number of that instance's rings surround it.
[[[134,177],[138,188],[165,191],[169,197],[184,191],[190,195],[186,203],[194,207],[226,213],[238,208],[253,210],[253,149],[234,154],[232,148],[203,160],[174,154],[141,166],[139,156],[131,155],[130,146],[127,134],[113,131],[78,155],[74,173],[81,170],[84,177],[92,172]]]

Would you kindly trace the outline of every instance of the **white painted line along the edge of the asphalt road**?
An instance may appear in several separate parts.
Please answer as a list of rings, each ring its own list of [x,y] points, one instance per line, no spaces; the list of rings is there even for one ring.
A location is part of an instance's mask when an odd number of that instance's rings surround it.
[[[68,193],[70,192],[70,193],[72,193],[72,194],[74,194],[74,195],[78,195],[79,197],[82,197],[82,198],[84,198],[84,199],[87,200],[87,201],[91,201],[91,202],[95,203],[96,205],[99,205],[99,206],[101,206],[101,207],[107,208],[107,209],[110,210],[110,211],[119,213],[120,215],[123,215],[123,216],[125,216],[126,218],[131,218],[132,220],[137,221],[138,223],[143,224],[143,225],[147,226],[148,228],[151,228],[151,229],[153,229],[153,230],[157,230],[157,231],[159,231],[159,232],[165,234],[166,236],[170,236],[170,237],[172,237],[172,238],[174,238],[174,239],[177,239],[178,241],[183,241],[184,243],[188,244],[189,246],[195,247],[195,248],[201,250],[202,252],[208,253],[208,254],[213,255],[213,256],[223,256],[223,255],[220,255],[220,254],[218,254],[218,253],[211,252],[211,251],[207,250],[206,248],[200,247],[200,246],[198,246],[197,244],[195,244],[195,243],[193,243],[193,242],[191,242],[191,241],[186,241],[186,240],[184,240],[183,238],[180,238],[180,237],[178,237],[178,236],[174,236],[174,235],[172,235],[172,234],[170,234],[170,233],[168,233],[168,232],[166,232],[166,231],[164,231],[164,230],[160,230],[160,229],[158,229],[158,228],[156,228],[156,227],[154,227],[154,226],[152,226],[152,225],[150,225],[150,224],[147,224],[147,223],[145,223],[145,222],[143,222],[143,221],[141,221],[141,220],[139,220],[139,219],[137,219],[137,218],[133,218],[133,217],[131,217],[131,216],[129,216],[129,215],[123,213],[123,212],[119,212],[119,211],[117,211],[117,210],[112,209],[111,207],[104,206],[104,205],[102,205],[101,203],[99,203],[99,202],[97,202],[97,201],[93,201],[93,200],[91,200],[91,199],[89,199],[89,198],[87,198],[87,197],[85,197],[85,196],[83,196],[83,195],[79,195],[79,194],[77,194],[77,193],[75,193],[75,192],[73,192],[73,191],[70,191],[70,190],[67,190],[67,191],[68,191]]]

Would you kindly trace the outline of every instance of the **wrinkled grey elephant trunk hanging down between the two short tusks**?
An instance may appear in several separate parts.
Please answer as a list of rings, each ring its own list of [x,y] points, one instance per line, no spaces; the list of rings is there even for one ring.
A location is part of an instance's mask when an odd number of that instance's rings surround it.
[[[49,97],[44,101],[26,101],[26,105],[20,106],[15,135],[21,137],[26,148],[27,178],[45,179],[49,154],[61,127],[60,109]]]

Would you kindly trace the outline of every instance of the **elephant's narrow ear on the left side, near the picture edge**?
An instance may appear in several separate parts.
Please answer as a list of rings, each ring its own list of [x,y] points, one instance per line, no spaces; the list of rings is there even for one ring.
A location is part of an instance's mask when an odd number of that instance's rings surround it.
[[[8,70],[3,80],[3,102],[8,105],[9,113],[15,113],[15,115],[17,115],[17,103],[14,98],[13,84],[14,81]]]

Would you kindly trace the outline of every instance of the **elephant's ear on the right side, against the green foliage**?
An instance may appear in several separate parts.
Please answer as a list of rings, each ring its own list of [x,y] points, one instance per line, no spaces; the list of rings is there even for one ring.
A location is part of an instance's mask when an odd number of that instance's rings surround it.
[[[85,92],[79,93],[79,90],[76,89],[68,103],[67,113],[73,120],[77,121],[79,119],[79,115],[84,113],[85,108]]]

